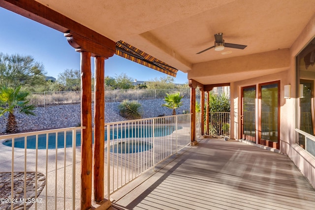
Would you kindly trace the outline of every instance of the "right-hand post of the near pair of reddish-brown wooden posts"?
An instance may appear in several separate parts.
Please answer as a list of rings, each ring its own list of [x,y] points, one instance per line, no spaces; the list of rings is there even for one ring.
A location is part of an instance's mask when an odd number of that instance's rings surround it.
[[[104,199],[104,138],[105,138],[105,99],[104,99],[104,58],[95,57],[94,94],[94,200]]]

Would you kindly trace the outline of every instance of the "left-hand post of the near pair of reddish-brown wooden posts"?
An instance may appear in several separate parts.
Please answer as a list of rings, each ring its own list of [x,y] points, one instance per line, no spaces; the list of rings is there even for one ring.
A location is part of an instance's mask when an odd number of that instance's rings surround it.
[[[92,203],[92,89],[91,53],[81,52],[81,210]]]

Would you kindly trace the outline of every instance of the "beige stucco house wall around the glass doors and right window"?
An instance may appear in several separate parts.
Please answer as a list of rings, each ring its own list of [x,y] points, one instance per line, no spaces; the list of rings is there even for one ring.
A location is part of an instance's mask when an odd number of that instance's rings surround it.
[[[280,151],[287,154],[301,173],[309,182],[315,186],[315,158],[305,152],[296,142],[295,133],[295,104],[296,104],[296,76],[295,56],[315,37],[315,16],[305,27],[300,36],[289,49],[289,66],[283,71],[270,73],[265,76],[253,77],[251,79],[239,80],[231,83],[231,136],[241,138],[240,108],[241,88],[280,80],[281,90],[281,114],[280,114]],[[271,72],[273,67],[265,69]],[[279,68],[278,68],[279,70]],[[291,85],[291,98],[284,98],[284,85]],[[258,86],[257,86],[258,90]],[[257,100],[257,99],[256,99]],[[258,104],[258,103],[256,103]],[[256,105],[257,106],[257,105]],[[257,117],[256,117],[256,120]]]

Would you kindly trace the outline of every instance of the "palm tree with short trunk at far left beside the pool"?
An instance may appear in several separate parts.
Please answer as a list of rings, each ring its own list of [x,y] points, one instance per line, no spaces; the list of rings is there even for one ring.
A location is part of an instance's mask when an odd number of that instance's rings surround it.
[[[20,92],[21,86],[17,88],[0,87],[0,117],[8,113],[8,121],[6,123],[6,132],[13,133],[17,130],[14,111],[18,109],[19,113],[26,115],[35,115],[32,111],[34,107],[27,105],[26,97],[28,92]]]

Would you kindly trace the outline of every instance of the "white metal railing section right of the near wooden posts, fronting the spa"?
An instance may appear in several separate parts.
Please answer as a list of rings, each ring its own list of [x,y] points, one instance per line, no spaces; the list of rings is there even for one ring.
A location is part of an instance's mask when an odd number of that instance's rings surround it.
[[[109,199],[110,194],[190,143],[190,114],[107,123],[106,136],[110,139],[105,145]]]

